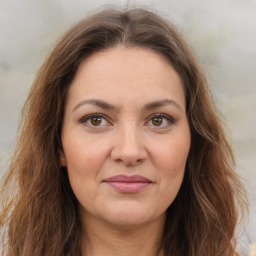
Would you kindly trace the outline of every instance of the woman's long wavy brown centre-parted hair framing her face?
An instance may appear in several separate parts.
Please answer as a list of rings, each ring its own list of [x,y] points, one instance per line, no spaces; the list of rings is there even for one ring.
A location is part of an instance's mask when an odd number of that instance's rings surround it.
[[[77,200],[59,163],[65,98],[79,64],[119,44],[165,56],[184,85],[192,142],[184,181],[166,212],[165,256],[236,255],[237,207],[246,206],[246,195],[207,81],[177,29],[143,9],[105,10],[82,20],[39,70],[1,190],[3,255],[81,255]]]

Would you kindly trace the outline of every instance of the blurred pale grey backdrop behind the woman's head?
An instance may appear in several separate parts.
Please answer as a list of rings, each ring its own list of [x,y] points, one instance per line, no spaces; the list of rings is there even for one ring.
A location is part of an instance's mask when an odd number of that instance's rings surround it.
[[[194,49],[248,190],[250,216],[239,247],[249,255],[256,241],[256,0],[0,0],[0,174],[35,73],[56,40],[79,19],[113,4],[157,10]]]

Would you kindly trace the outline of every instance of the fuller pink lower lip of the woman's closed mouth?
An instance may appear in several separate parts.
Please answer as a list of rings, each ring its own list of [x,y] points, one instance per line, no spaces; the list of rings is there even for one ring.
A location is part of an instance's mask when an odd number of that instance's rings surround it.
[[[106,182],[110,187],[123,193],[136,193],[144,190],[150,182]]]

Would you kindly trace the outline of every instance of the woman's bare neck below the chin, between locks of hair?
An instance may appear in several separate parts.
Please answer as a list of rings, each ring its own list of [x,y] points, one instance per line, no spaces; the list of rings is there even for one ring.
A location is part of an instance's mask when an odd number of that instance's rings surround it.
[[[133,227],[117,227],[87,216],[82,223],[82,256],[163,256],[165,217]]]

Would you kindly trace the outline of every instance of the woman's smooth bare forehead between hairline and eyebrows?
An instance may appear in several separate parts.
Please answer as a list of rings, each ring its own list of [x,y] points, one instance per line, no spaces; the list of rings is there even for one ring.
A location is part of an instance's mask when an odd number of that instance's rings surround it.
[[[144,48],[118,46],[86,58],[71,83],[71,100],[154,101],[165,96],[184,104],[181,79],[164,56]]]

